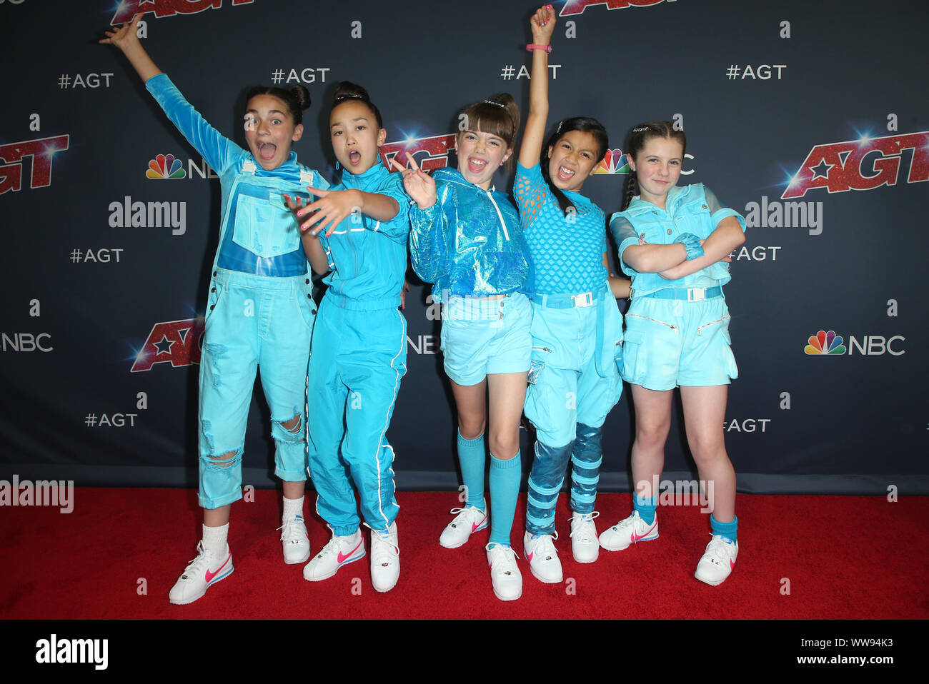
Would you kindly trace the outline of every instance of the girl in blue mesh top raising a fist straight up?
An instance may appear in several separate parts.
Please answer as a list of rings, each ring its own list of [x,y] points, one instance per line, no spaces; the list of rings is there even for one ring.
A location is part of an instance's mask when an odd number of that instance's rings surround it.
[[[601,429],[622,392],[616,364],[622,316],[614,298],[628,296],[629,281],[608,277],[606,215],[579,192],[608,149],[607,132],[594,119],[568,119],[543,147],[552,6],[536,11],[531,29],[530,111],[513,190],[533,267],[525,413],[536,428],[536,445],[523,544],[532,574],[556,583],[562,571],[554,544],[555,506],[569,459],[574,560],[593,562],[598,554],[594,507]]]

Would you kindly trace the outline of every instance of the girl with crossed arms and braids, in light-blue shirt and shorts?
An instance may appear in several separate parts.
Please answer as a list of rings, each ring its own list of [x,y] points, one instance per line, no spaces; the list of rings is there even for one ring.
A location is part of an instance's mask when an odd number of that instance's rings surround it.
[[[723,285],[727,254],[745,241],[745,220],[708,187],[676,187],[686,145],[670,122],[632,130],[627,158],[635,175],[609,224],[622,269],[633,278],[622,377],[635,404],[635,498],[633,514],[604,531],[600,545],[616,551],[658,537],[655,490],[680,387],[687,444],[711,510],[712,538],[695,576],[715,586],[739,554],[736,474],[723,432],[728,383],[739,371]]]

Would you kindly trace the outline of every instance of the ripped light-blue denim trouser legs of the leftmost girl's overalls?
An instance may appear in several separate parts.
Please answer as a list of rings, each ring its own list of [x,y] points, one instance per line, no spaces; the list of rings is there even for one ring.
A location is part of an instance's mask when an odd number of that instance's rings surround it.
[[[200,362],[200,505],[242,498],[242,451],[255,372],[271,409],[274,474],[307,479],[307,367],[316,305],[309,275],[214,270]]]

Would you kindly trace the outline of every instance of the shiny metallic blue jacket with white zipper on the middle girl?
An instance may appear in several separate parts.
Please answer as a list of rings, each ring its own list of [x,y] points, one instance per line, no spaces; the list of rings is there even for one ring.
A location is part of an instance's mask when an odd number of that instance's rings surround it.
[[[438,169],[432,177],[436,203],[410,209],[410,254],[416,275],[434,283],[433,301],[522,290],[529,246],[509,196],[481,189],[457,169]]]

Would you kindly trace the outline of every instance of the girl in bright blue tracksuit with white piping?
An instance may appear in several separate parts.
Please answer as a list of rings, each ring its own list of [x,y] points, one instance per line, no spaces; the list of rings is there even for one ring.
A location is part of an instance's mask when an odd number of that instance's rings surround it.
[[[309,471],[316,508],[333,538],[304,568],[319,581],[365,554],[361,515],[371,528],[371,575],[378,591],[399,577],[394,451],[386,432],[406,373],[406,319],[399,312],[410,233],[400,174],[379,163],[386,131],[358,85],[336,88],[329,115],[342,182],[298,210],[319,239],[332,274],[320,304],[309,364]]]

